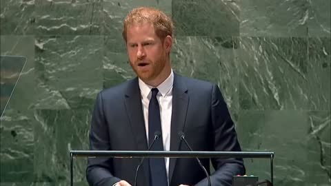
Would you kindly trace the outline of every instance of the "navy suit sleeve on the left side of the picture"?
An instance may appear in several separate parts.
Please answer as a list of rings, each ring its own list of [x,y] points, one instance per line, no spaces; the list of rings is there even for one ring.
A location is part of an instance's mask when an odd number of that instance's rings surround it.
[[[102,92],[98,94],[90,127],[90,149],[110,150],[108,125],[103,113]],[[110,186],[120,181],[112,175],[112,158],[88,158],[86,178],[90,186]]]

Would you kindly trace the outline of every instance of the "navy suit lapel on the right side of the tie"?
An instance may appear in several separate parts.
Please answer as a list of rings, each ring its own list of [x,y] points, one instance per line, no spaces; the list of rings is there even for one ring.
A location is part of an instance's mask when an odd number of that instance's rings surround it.
[[[188,110],[188,89],[183,82],[183,78],[174,74],[174,85],[172,88],[172,118],[171,118],[171,133],[170,133],[170,151],[179,150],[179,132],[183,132],[185,127],[185,118]],[[176,165],[177,158],[170,158],[169,165],[169,180],[171,183],[172,174]]]

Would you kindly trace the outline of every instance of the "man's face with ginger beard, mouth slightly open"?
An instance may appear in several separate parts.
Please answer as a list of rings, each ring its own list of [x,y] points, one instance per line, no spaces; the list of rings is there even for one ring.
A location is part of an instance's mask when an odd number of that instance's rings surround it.
[[[168,77],[171,69],[168,58],[171,44],[168,40],[162,42],[157,37],[152,23],[128,25],[126,47],[130,65],[145,83],[158,84],[161,83],[159,80]]]

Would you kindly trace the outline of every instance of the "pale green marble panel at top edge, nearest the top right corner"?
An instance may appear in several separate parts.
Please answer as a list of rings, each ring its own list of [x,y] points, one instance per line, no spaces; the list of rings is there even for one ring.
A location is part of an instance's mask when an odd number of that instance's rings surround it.
[[[239,0],[240,35],[245,37],[305,37],[310,1]]]

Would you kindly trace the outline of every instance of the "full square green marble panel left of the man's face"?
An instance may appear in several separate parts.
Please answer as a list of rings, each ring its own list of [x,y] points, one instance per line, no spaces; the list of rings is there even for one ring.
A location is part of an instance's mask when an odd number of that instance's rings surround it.
[[[38,37],[36,73],[43,90],[36,108],[90,108],[102,89],[103,39],[99,36]],[[42,103],[41,103],[42,102]]]

